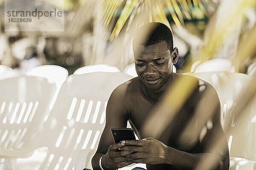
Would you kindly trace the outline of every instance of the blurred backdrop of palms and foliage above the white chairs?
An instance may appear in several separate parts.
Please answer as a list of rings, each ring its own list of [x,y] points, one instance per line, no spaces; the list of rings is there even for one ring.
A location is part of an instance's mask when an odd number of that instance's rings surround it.
[[[5,31],[0,0],[1,65],[21,74],[45,64],[60,65],[69,74],[102,63],[122,71],[133,62],[134,29],[152,21],[172,29],[180,52],[178,73],[210,59],[227,59],[232,71],[247,73],[256,62],[254,0],[65,0],[64,6],[44,0],[45,4],[64,10],[64,32],[19,31],[19,25],[17,31]]]

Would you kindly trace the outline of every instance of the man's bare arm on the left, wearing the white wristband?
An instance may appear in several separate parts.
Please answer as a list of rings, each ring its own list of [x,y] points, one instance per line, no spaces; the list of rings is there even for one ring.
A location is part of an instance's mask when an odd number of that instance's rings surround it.
[[[99,159],[102,158],[102,167],[107,169],[116,169],[115,167],[111,167],[111,163],[113,164],[113,160],[108,159],[114,159],[113,157],[119,156],[119,161],[125,161],[126,164],[124,166],[128,165],[127,161],[130,159],[123,158],[121,159],[121,156],[126,156],[127,154],[131,152],[116,152],[116,150],[119,147],[122,147],[123,144],[113,144],[113,137],[111,135],[111,128],[113,127],[126,127],[127,126],[127,120],[128,120],[128,112],[126,109],[127,103],[125,103],[125,91],[126,91],[126,85],[122,84],[119,85],[111,94],[108,105],[106,109],[106,125],[103,130],[101,139],[99,141],[98,149],[93,156],[92,159],[92,166],[93,170],[101,170],[99,167]],[[125,105],[126,104],[126,105]],[[108,153],[108,154],[106,154]],[[122,162],[119,162],[120,164]],[[117,163],[117,164],[119,164]],[[131,162],[129,163],[131,164]],[[121,166],[121,165],[118,165]]]

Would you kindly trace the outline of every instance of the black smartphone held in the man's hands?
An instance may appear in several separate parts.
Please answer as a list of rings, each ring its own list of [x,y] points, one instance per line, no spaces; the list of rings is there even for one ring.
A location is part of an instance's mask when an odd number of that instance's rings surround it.
[[[134,130],[131,128],[111,128],[111,133],[115,143],[122,140],[135,140]]]

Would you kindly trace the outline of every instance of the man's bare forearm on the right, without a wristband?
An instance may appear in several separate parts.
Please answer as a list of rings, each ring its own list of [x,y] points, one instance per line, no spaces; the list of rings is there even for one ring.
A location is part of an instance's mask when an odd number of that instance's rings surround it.
[[[209,157],[210,160],[214,160],[212,158],[215,158],[215,160],[218,161],[214,162],[214,166],[212,166],[212,169],[216,170],[227,170],[226,166],[223,164],[223,162],[220,160],[220,157],[211,155],[210,153],[187,153],[184,151],[176,150],[172,147],[168,147],[166,150],[166,158],[165,163],[171,164],[174,167],[177,167],[179,169],[195,169],[198,166],[198,163],[202,161],[202,159],[205,159],[206,157]],[[206,158],[207,159],[207,158]]]

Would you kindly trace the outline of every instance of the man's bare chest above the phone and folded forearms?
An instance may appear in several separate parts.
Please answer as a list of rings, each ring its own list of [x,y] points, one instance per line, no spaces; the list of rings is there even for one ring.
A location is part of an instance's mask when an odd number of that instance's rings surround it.
[[[141,139],[149,137],[145,136],[145,134],[143,133],[143,126],[145,125],[146,120],[149,119],[155,113],[158,105],[160,105],[160,103],[154,103],[146,99],[140,99],[140,102],[134,100],[133,107],[131,108],[129,113],[129,119],[132,123],[132,127],[135,130],[137,130]],[[169,108],[170,111],[172,109],[173,108]],[[163,113],[163,116],[165,114],[166,113]],[[169,124],[164,128],[162,133],[159,135],[160,137],[158,138],[158,140],[167,145],[172,145],[173,147],[183,147],[181,146],[183,144],[181,144],[180,138],[181,136],[183,136],[182,134],[185,131],[186,126],[190,125],[189,136],[186,133],[187,138],[185,139],[186,141],[184,141],[183,143],[196,142],[198,122],[196,119],[192,118],[194,117],[191,105],[183,105],[183,107],[179,111],[177,111],[177,113],[175,113],[173,119],[169,120]],[[154,126],[161,125],[151,125],[151,127],[153,128]]]

